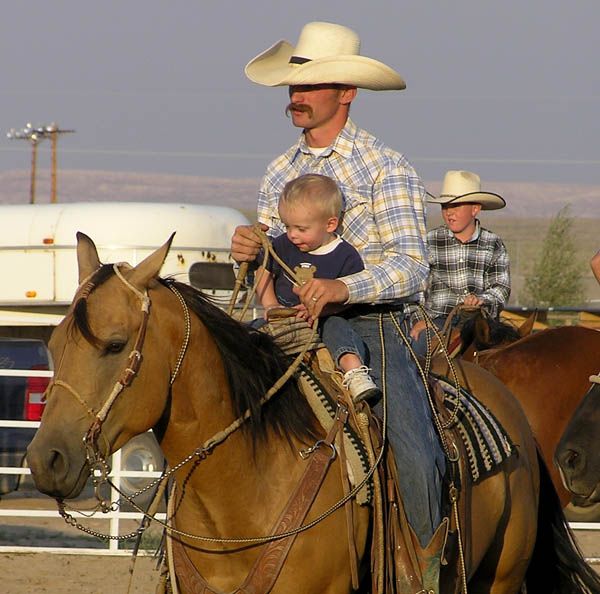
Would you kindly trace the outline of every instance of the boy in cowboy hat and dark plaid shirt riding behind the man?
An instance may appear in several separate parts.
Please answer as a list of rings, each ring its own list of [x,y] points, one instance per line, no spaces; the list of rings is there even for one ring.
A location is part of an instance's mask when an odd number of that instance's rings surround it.
[[[431,195],[430,195],[431,196]],[[482,210],[504,208],[504,198],[481,191],[479,176],[470,171],[448,171],[439,196],[445,225],[427,234],[429,285],[425,311],[438,328],[460,304],[483,307],[492,317],[500,314],[510,296],[508,253],[498,235],[484,229],[477,215]],[[455,321],[459,321],[456,316]],[[415,351],[427,351],[426,322],[422,312],[414,316],[410,335]]]

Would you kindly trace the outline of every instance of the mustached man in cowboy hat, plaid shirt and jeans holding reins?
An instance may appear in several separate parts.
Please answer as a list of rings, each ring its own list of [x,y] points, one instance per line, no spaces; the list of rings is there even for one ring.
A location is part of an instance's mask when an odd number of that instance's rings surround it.
[[[428,273],[425,189],[403,155],[349,119],[358,87],[405,88],[398,73],[361,56],[359,48],[358,35],[347,27],[309,23],[295,47],[279,41],[246,66],[246,75],[258,84],[289,87],[286,113],[303,130],[298,142],[267,168],[258,195],[258,221],[271,237],[285,232],[277,202],[286,182],[299,175],[327,175],[342,191],[339,231],[360,252],[365,269],[307,282],[297,290],[300,307],[316,318],[328,305],[339,309],[342,304],[346,309],[340,315],[367,343],[366,363],[389,395],[387,435],[407,516],[425,545],[441,521],[445,458],[416,365],[399,336],[407,328],[408,304],[420,299]],[[251,227],[236,229],[231,247],[236,261],[253,261],[259,248]]]

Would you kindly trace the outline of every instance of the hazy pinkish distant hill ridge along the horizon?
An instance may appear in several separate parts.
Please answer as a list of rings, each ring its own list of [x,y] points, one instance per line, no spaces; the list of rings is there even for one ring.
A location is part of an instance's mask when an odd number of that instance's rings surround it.
[[[0,203],[29,202],[29,171],[0,173]],[[61,170],[58,173],[59,202],[191,202],[222,204],[253,212],[258,179],[225,179],[191,175],[167,175],[115,171]],[[427,182],[438,193],[440,182]],[[566,204],[575,217],[600,218],[600,186],[534,182],[489,183],[484,189],[501,194],[507,207],[494,217],[552,217]],[[39,170],[36,202],[50,200],[50,173]],[[437,207],[436,207],[437,210]]]

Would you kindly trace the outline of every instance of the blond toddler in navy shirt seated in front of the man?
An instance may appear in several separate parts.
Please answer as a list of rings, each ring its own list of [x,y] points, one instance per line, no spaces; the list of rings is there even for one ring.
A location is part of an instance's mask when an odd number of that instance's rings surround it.
[[[285,185],[278,211],[286,232],[273,240],[273,251],[288,270],[271,260],[267,270],[259,272],[256,292],[265,317],[281,306],[294,307],[297,317],[307,317],[288,271],[302,284],[312,278],[339,278],[364,270],[360,254],[336,233],[342,203],[337,184],[325,175],[307,173]],[[381,390],[365,365],[366,345],[348,321],[335,315],[321,317],[319,331],[353,400],[379,399]]]

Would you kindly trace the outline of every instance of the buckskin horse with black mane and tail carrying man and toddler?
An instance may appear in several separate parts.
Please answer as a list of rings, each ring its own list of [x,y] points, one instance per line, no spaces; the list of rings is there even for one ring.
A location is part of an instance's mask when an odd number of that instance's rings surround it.
[[[81,492],[90,471],[103,472],[106,456],[152,427],[176,483],[167,540],[184,553],[171,574],[179,592],[354,591],[349,541],[368,561],[368,506],[353,504],[352,531],[343,510],[326,513],[344,498],[340,457],[318,447],[328,437],[294,382],[264,402],[288,359],[198,291],[161,279],[169,246],[135,267],[101,265],[92,240],[78,234],[80,286],[50,341],[55,377],[28,449],[37,488],[60,506]],[[461,364],[458,375],[516,444],[470,491],[469,591],[516,594],[523,582],[530,592],[598,586],[538,466],[521,408],[481,368]],[[317,455],[330,463],[322,485],[310,509],[290,520],[287,502]],[[287,536],[299,523],[309,529]],[[286,546],[285,556],[274,554]],[[442,592],[461,590],[460,580],[447,583]]]

